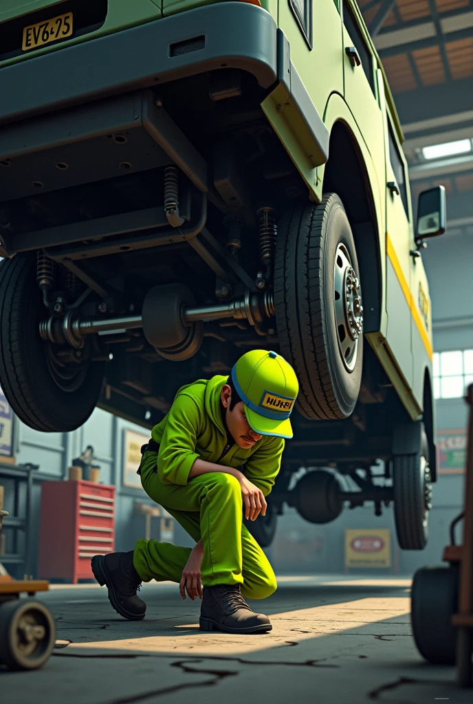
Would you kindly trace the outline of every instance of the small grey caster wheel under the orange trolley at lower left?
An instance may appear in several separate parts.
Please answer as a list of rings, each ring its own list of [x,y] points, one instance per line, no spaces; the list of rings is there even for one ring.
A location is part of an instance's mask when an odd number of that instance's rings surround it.
[[[0,662],[11,670],[37,670],[54,647],[56,627],[44,604],[12,599],[0,604]]]

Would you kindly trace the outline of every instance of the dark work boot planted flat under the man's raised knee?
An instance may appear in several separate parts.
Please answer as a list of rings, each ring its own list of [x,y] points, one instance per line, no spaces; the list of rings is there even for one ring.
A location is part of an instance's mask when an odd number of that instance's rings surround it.
[[[204,586],[201,631],[265,633],[272,629],[269,618],[256,614],[241,596],[239,584]]]

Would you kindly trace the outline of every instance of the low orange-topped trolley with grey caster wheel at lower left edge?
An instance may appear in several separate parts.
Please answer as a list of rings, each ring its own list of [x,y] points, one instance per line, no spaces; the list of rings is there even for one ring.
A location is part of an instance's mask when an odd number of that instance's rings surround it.
[[[3,508],[4,487],[0,486],[0,534],[2,519],[8,515]],[[39,601],[20,599],[22,592],[34,596],[47,589],[49,582],[12,579],[0,562],[0,665],[37,670],[49,660],[56,639],[51,612]]]

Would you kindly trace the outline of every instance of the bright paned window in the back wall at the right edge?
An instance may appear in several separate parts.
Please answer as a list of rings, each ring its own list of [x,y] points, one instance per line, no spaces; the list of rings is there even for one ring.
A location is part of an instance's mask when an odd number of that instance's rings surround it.
[[[434,354],[434,398],[461,398],[473,384],[473,350]]]

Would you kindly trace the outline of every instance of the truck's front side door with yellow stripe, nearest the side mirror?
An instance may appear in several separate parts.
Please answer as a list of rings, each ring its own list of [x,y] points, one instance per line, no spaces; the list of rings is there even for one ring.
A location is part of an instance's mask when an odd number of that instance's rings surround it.
[[[412,388],[410,194],[407,166],[389,111],[386,111],[386,341],[408,386]]]

